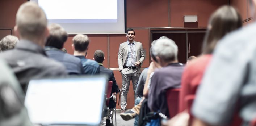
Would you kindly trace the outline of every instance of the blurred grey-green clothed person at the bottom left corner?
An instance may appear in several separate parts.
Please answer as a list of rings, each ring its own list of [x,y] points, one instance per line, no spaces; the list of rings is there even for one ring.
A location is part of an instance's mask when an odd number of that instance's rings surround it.
[[[0,126],[33,126],[17,78],[3,60],[0,60],[0,66]]]

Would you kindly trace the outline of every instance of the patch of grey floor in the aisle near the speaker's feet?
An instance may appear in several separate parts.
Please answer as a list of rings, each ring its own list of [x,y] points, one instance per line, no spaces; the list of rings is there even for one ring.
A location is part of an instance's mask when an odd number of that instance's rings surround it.
[[[121,118],[120,113],[121,113],[121,110],[117,110],[117,126],[133,126],[134,119],[129,120],[129,121],[125,121]],[[103,121],[106,121],[105,118],[104,118]],[[114,118],[113,118],[113,124],[114,124],[114,126],[116,126],[115,114],[114,114]],[[101,125],[101,126],[105,126],[105,125]]]

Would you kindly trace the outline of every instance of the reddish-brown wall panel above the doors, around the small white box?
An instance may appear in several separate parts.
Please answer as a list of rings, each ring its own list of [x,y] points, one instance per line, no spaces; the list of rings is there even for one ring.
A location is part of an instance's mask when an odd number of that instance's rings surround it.
[[[197,15],[198,27],[207,27],[214,10],[228,0],[170,0],[171,27],[184,27],[184,15]]]

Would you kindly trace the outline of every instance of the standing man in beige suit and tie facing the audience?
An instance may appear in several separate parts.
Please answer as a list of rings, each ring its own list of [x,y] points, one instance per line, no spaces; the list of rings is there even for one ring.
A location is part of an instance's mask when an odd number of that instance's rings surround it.
[[[122,74],[121,108],[125,112],[127,105],[127,93],[130,81],[133,82],[134,99],[135,89],[141,73],[141,64],[145,59],[142,44],[134,41],[135,31],[129,28],[126,32],[128,41],[120,44],[118,52],[118,66]]]

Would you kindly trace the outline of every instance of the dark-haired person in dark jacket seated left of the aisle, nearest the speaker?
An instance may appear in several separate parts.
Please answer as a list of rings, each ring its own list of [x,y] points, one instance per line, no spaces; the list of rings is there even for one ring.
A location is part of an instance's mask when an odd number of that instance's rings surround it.
[[[105,68],[103,66],[103,61],[105,60],[105,56],[104,56],[103,51],[96,50],[95,53],[94,53],[94,58],[93,59],[96,62],[98,62],[98,64],[100,65],[100,73],[108,75],[109,76],[109,81],[113,82],[112,90],[111,90],[111,95],[114,92],[118,92],[119,89],[118,89],[118,85],[117,85],[116,79],[114,77],[114,72],[112,70],[107,69],[107,68]],[[110,111],[108,111],[108,114],[106,116],[106,126],[110,126],[110,116],[113,119],[113,113],[110,114],[110,112],[113,110],[113,108],[116,107],[116,102],[113,100],[113,98],[109,99],[109,106],[108,107],[109,107]]]

